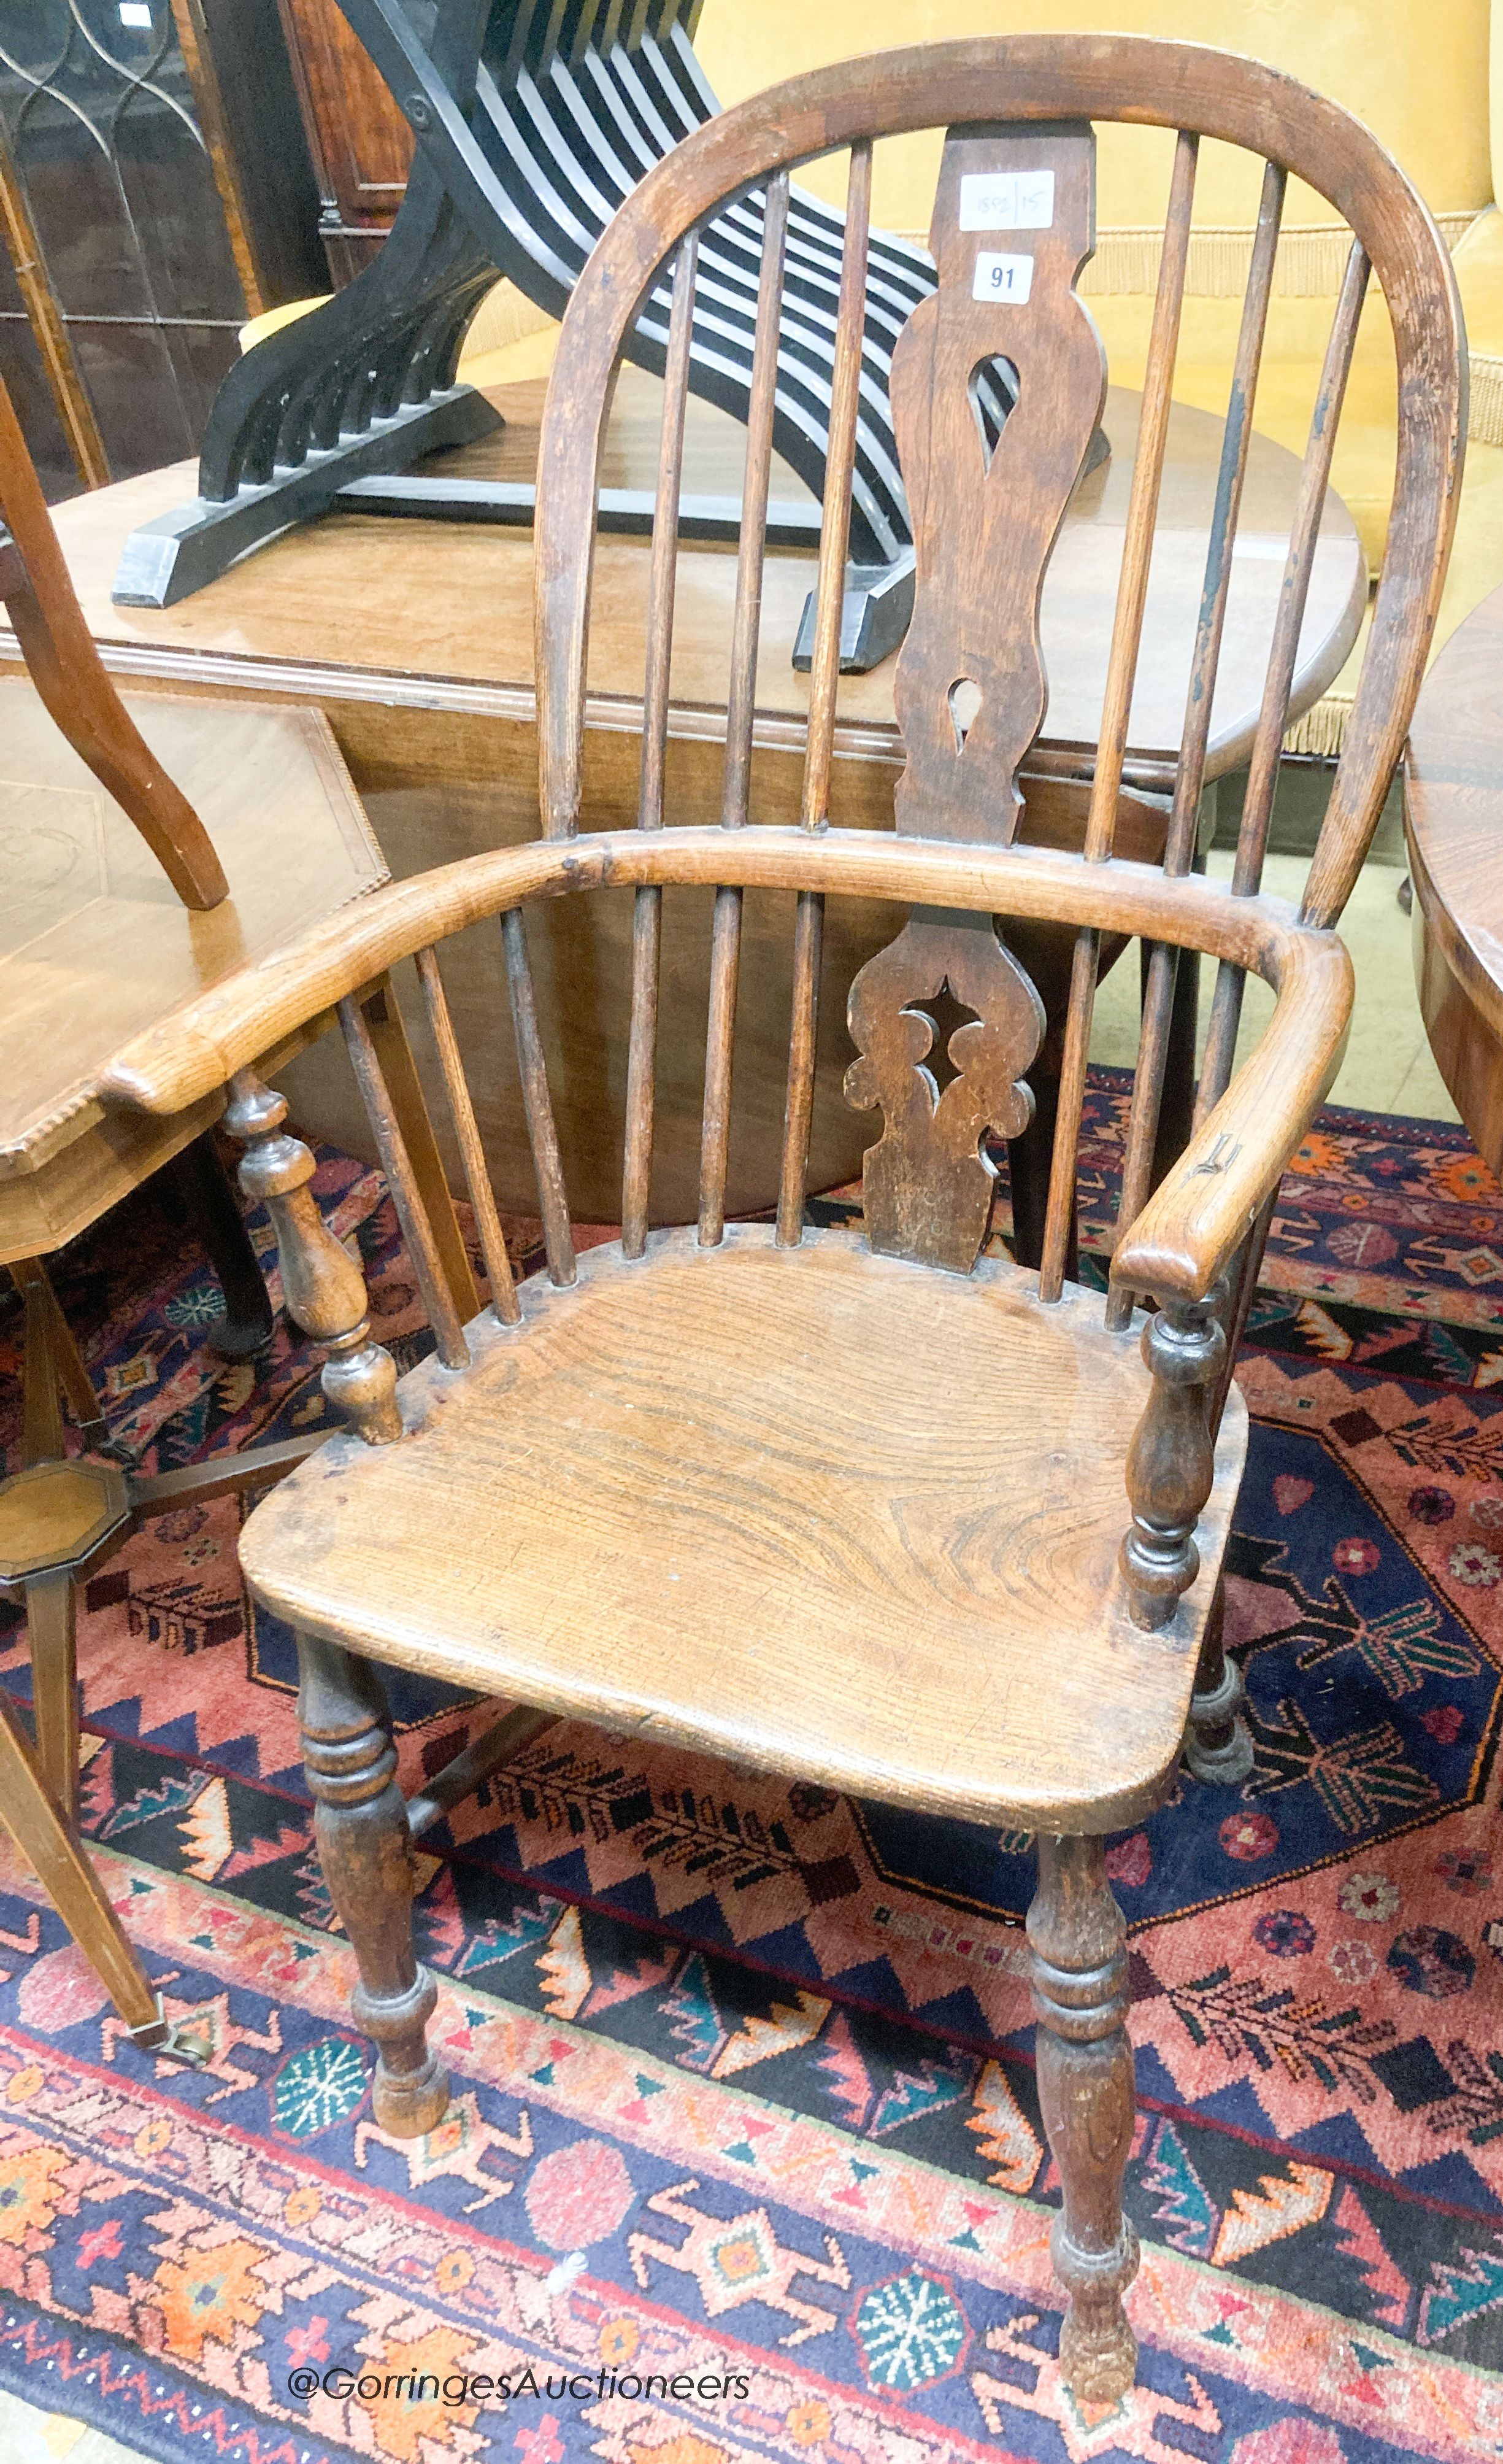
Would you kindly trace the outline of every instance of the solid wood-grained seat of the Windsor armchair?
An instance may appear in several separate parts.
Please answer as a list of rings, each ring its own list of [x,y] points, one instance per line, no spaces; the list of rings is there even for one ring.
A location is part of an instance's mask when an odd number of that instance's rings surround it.
[[[301,1631],[991,1823],[1057,1821],[1062,1772],[1084,1831],[1163,1796],[1247,1412],[1200,1579],[1143,1634],[1116,1552],[1151,1377],[1096,1296],[747,1225],[589,1249],[468,1335],[468,1370],[402,1380],[402,1444],[335,1437],[249,1518],[251,1589]]]

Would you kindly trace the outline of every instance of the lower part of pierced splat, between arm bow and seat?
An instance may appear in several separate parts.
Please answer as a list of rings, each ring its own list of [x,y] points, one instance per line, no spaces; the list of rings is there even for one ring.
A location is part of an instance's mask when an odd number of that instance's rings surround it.
[[[926,909],[850,986],[860,1060],[845,1072],[855,1111],[882,1106],[865,1156],[872,1249],[971,1274],[991,1220],[988,1129],[1015,1138],[1032,1119],[1020,1084],[1042,1032],[1042,1003],[991,917]]]

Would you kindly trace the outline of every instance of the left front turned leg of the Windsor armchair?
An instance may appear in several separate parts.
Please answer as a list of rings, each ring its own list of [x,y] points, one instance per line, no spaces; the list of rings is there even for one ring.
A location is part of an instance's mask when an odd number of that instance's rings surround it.
[[[448,2077],[424,2033],[436,1986],[411,1947],[411,1831],[397,1786],[387,1695],[370,1661],[310,1634],[298,1636],[298,1673],[318,1855],[360,1961],[355,2023],[379,2053],[377,2122],[397,2139],[416,2139],[444,2119]]]

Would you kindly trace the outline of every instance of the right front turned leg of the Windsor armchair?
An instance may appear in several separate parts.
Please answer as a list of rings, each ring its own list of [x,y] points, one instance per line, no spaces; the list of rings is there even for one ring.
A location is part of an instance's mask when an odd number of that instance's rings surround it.
[[[1126,1927],[1099,1838],[1037,1838],[1027,1910],[1037,2089],[1064,2205],[1050,2252],[1069,2294],[1059,2373],[1082,2402],[1133,2385],[1138,2346],[1121,2296],[1138,2272],[1138,2235],[1121,2213],[1133,2144],[1133,2048],[1126,2033]]]

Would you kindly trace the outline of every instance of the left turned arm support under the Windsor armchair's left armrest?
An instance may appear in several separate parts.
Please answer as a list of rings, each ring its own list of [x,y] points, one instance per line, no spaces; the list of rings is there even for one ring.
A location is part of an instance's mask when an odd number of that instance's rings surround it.
[[[402,1437],[397,1363],[372,1343],[365,1276],[328,1230],[308,1183],[313,1156],[286,1129],[286,1099],[254,1069],[229,1082],[224,1126],[244,1143],[239,1185],[276,1230],[288,1316],[323,1343],[323,1392],[370,1446]]]

